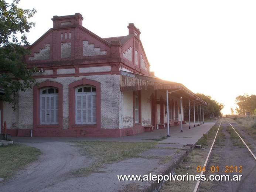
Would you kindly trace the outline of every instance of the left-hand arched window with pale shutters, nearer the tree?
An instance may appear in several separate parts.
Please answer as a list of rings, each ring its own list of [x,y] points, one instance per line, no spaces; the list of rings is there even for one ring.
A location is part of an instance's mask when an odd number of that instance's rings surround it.
[[[58,98],[57,88],[48,87],[40,90],[40,124],[57,125],[58,122]]]

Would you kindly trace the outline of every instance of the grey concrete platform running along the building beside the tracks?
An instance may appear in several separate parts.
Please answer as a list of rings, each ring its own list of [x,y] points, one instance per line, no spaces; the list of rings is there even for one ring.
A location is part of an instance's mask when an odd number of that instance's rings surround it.
[[[216,120],[217,121],[217,120]],[[183,124],[181,133],[180,126],[170,127],[170,137],[158,141],[156,148],[140,154],[140,158],[131,158],[120,162],[115,162],[100,168],[99,172],[90,174],[85,177],[67,178],[65,183],[59,185],[49,185],[42,189],[45,191],[63,191],[59,186],[69,186],[66,191],[97,191],[97,192],[114,192],[125,191],[128,184],[139,186],[140,191],[158,191],[163,183],[157,181],[118,181],[117,175],[170,175],[185,158],[187,152],[192,150],[192,147],[185,146],[187,144],[195,145],[195,143],[214,126],[216,121],[205,122],[200,126],[194,127],[191,124],[191,129],[188,124]],[[135,136],[126,136],[120,138],[92,138],[92,137],[12,137],[14,143],[24,143],[34,145],[37,142],[69,142],[69,141],[117,141],[117,142],[150,142],[156,139],[166,137],[167,128],[154,130],[154,132],[141,133]],[[52,143],[53,144],[53,143]],[[180,149],[177,153],[177,149]],[[168,157],[170,161],[165,164],[160,164],[157,157]],[[53,157],[54,158],[54,157]],[[86,163],[86,162],[85,162]],[[100,178],[100,179],[99,179]],[[10,181],[11,182],[11,181]],[[25,185],[25,184],[24,184]],[[78,187],[80,186],[80,187]],[[86,186],[86,188],[85,188]],[[1,189],[1,187],[0,187]],[[70,189],[70,190],[69,190]],[[33,191],[33,188],[29,189]]]

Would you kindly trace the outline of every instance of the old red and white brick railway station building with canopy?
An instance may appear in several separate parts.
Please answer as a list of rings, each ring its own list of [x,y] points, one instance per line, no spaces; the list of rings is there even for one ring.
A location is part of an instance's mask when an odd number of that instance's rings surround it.
[[[24,57],[38,85],[0,101],[12,136],[123,137],[184,123],[184,106],[207,105],[184,85],[150,72],[140,30],[101,38],[83,17],[54,16]],[[195,107],[194,107],[195,108]],[[201,108],[200,108],[201,109]]]

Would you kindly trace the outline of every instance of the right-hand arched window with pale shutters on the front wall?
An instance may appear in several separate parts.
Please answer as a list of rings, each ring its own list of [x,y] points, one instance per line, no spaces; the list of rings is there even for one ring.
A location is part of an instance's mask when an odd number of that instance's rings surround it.
[[[96,124],[96,88],[76,88],[76,124]]]

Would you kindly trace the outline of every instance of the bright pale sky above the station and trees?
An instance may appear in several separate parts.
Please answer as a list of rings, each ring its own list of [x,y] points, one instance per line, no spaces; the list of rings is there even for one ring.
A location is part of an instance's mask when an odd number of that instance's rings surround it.
[[[128,35],[134,23],[159,78],[211,96],[225,105],[224,115],[235,111],[237,96],[256,95],[255,0],[20,0],[19,6],[37,10],[31,44],[53,26],[53,16],[81,13],[83,27],[102,38]]]

